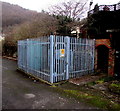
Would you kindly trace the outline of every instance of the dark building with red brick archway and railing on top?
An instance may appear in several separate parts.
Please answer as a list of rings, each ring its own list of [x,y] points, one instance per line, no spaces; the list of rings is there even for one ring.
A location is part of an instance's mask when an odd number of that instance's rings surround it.
[[[95,69],[120,76],[120,3],[88,12],[87,37],[96,40]]]

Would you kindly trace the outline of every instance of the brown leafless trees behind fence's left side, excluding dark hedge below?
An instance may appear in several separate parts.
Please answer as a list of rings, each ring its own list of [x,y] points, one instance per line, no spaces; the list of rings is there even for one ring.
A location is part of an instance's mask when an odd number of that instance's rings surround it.
[[[9,33],[7,32],[6,40],[16,43],[17,40],[21,39],[50,35],[56,31],[56,26],[57,21],[54,17],[47,13],[41,13],[34,17],[34,20],[10,28]]]

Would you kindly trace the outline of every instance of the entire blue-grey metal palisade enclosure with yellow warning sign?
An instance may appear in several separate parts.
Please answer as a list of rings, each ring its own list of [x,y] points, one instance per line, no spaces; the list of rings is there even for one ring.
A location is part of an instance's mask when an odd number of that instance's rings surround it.
[[[18,68],[54,83],[94,71],[93,39],[50,36],[18,42]]]

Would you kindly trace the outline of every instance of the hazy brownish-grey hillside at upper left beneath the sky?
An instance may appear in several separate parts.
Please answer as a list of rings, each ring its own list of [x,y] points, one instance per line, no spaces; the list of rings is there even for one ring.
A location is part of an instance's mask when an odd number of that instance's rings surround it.
[[[24,9],[18,5],[2,2],[2,26],[3,28],[31,20],[38,14],[35,11]]]

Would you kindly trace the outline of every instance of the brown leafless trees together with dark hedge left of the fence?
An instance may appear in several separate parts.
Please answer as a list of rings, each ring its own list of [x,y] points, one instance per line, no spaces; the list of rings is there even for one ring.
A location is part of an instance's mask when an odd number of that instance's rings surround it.
[[[7,27],[4,30],[6,36],[3,53],[13,56],[17,49],[18,40],[48,36],[51,32],[56,31],[56,24],[57,21],[54,17],[47,13],[40,13],[31,21]]]

